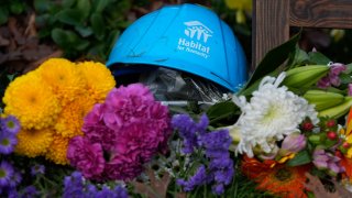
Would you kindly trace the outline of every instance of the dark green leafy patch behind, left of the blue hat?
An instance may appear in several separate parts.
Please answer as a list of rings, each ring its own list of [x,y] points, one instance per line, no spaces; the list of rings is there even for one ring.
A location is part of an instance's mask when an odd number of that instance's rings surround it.
[[[106,61],[119,36],[130,23],[129,0],[34,0],[42,40],[53,40],[66,57],[88,56]]]

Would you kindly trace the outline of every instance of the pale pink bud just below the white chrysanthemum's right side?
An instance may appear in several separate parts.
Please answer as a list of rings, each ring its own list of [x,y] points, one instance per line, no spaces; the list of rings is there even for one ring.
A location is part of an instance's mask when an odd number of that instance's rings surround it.
[[[292,153],[298,153],[307,145],[307,139],[300,133],[292,133],[287,135],[282,144],[279,154],[282,156],[289,155]]]

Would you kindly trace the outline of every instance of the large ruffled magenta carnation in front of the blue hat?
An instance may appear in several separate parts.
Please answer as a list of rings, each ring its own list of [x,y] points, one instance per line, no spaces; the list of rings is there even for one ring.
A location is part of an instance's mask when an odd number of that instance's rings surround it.
[[[112,89],[105,103],[87,114],[82,131],[86,142],[102,146],[106,162],[99,177],[124,180],[138,176],[153,155],[166,151],[172,132],[168,109],[142,84]],[[74,166],[85,161],[79,152],[72,158]]]

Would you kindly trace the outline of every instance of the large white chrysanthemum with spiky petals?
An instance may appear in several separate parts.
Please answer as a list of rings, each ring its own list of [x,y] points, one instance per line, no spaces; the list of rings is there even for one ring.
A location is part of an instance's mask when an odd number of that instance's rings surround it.
[[[285,77],[286,74],[282,73],[277,79],[263,78],[250,102],[243,96],[233,97],[233,102],[242,111],[233,125],[241,136],[237,152],[246,153],[250,157],[253,157],[254,147],[271,153],[275,148],[276,141],[299,131],[298,125],[305,118],[310,118],[312,123],[319,122],[314,106],[288,91],[287,87],[278,87]]]

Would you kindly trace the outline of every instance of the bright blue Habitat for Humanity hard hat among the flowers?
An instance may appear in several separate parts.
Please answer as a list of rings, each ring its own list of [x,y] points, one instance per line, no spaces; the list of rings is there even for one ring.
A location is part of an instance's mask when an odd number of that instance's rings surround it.
[[[211,10],[188,3],[136,20],[117,41],[107,63],[117,75],[142,70],[141,64],[187,72],[231,91],[248,76],[243,50],[231,29]]]

